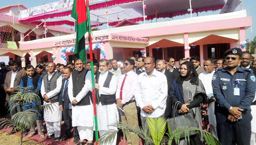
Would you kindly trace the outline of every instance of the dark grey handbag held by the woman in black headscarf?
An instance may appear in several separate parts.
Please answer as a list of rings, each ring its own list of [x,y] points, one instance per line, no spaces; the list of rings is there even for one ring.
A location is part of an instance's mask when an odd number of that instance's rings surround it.
[[[175,117],[175,112],[177,110],[178,104],[181,103],[179,101],[177,101],[174,105],[174,109],[173,109],[173,117],[168,119],[168,125],[171,128],[171,130],[175,130],[178,127],[197,127],[198,128],[198,124],[196,122],[196,115],[194,114],[194,111],[192,110],[192,112],[186,113],[184,115],[180,115]],[[195,135],[197,134],[196,131],[189,131],[189,135]],[[181,133],[180,134],[180,138],[184,138],[185,137],[185,133]]]

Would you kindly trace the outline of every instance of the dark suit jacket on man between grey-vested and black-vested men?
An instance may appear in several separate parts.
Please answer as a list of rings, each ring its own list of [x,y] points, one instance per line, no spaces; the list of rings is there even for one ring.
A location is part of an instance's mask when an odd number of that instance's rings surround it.
[[[59,93],[59,105],[63,105],[63,109],[70,109],[69,108],[69,97],[68,97],[68,85],[66,85],[66,88],[64,88],[66,79],[62,80],[62,86],[61,91]],[[64,101],[62,101],[62,93],[64,92]]]

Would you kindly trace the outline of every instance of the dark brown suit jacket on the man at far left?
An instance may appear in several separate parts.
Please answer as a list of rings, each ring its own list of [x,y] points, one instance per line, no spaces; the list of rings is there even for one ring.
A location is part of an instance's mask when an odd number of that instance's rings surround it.
[[[20,70],[20,69],[18,70],[14,80],[14,86],[13,86],[14,89],[17,89],[20,87],[20,79],[25,75],[26,75],[26,72],[24,70]],[[6,92],[6,101],[8,101],[10,97],[10,93],[7,93],[7,89],[10,88],[11,80],[12,80],[12,71],[6,73],[6,77],[4,80],[3,89]]]

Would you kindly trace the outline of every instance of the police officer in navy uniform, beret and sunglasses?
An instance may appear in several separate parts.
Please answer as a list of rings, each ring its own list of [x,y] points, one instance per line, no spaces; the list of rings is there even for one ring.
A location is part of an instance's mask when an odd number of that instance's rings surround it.
[[[232,145],[232,140],[236,145],[250,145],[250,106],[255,96],[256,77],[252,70],[238,66],[241,56],[240,48],[227,50],[224,54],[227,68],[217,69],[213,75],[217,135],[222,145]]]

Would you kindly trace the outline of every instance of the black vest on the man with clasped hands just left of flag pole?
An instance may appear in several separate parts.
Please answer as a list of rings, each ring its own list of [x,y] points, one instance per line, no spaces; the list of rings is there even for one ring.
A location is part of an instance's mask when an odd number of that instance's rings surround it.
[[[88,72],[88,70],[86,70],[86,69],[83,69],[81,72],[79,72],[77,70],[72,72],[74,97],[76,97],[79,94],[79,92],[82,90],[87,72]],[[90,105],[91,104],[90,99],[92,100],[92,92],[88,91],[88,93],[85,95],[85,97],[83,97],[82,100],[79,101],[79,103],[77,105],[78,106]]]

